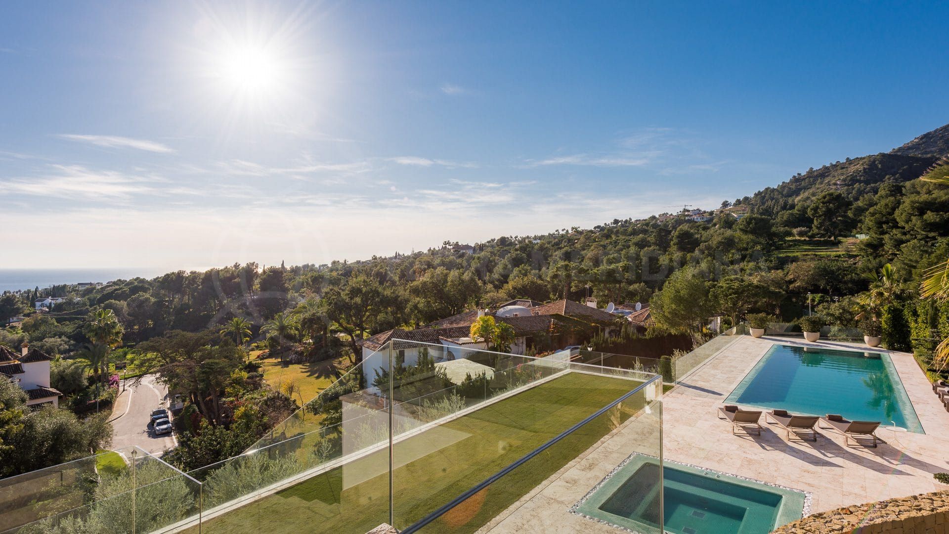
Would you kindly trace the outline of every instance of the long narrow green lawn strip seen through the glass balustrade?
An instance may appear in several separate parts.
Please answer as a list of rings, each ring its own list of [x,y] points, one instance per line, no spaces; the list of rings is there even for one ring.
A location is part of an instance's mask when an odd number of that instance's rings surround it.
[[[572,372],[396,444],[395,523],[404,528],[639,383]],[[642,408],[636,395],[430,526],[474,532]],[[202,533],[366,532],[389,521],[388,450],[244,505]],[[363,480],[368,476],[368,480]],[[193,529],[196,532],[196,528]]]

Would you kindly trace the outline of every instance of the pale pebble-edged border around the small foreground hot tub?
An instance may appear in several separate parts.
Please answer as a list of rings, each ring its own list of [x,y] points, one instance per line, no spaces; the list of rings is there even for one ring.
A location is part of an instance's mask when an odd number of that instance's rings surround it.
[[[586,495],[584,495],[583,498],[577,501],[576,504],[570,506],[570,508],[568,509],[568,512],[571,514],[583,517],[585,519],[595,521],[600,524],[606,524],[614,528],[619,528],[625,532],[630,532],[631,534],[655,534],[659,532],[658,528],[641,524],[640,522],[636,520],[624,518],[622,516],[617,516],[615,514],[611,514],[609,512],[606,512],[600,509],[599,505],[602,505],[603,502],[605,502],[605,500],[608,499],[610,495],[612,495],[613,493],[612,491],[605,492],[602,499],[591,500],[591,498],[600,489],[608,485],[612,486],[613,481],[611,479],[613,479],[614,475],[619,473],[621,470],[623,470],[624,467],[631,464],[634,460],[638,460],[639,465],[645,464],[647,462],[655,462],[655,463],[659,462],[659,459],[657,457],[651,456],[649,454],[642,454],[642,452],[634,452],[630,454],[623,460],[623,462],[620,462],[620,464],[617,467],[613,467],[612,469],[610,469],[610,471],[606,473],[606,476],[603,478],[603,480],[601,480],[599,483],[597,483],[596,486],[593,486],[589,491],[587,491]],[[775,493],[778,493],[779,495],[781,495],[782,499],[781,499],[781,505],[778,507],[777,518],[774,521],[775,524],[772,525],[772,529],[777,528],[778,526],[781,526],[783,524],[789,524],[792,521],[796,521],[798,519],[801,519],[802,517],[807,517],[810,515],[810,507],[813,501],[813,497],[809,491],[796,489],[794,487],[772,484],[770,482],[764,482],[764,481],[756,480],[754,478],[744,477],[741,475],[735,475],[732,473],[726,473],[726,472],[719,471],[716,469],[709,469],[707,467],[696,466],[693,464],[686,464],[683,462],[676,462],[674,460],[663,460],[662,464],[675,465],[678,467],[687,467],[687,469],[680,469],[680,470],[685,470],[686,472],[693,472],[694,474],[695,474],[695,471],[703,471],[702,473],[699,473],[699,474],[702,474],[703,476],[706,473],[715,473],[716,475],[729,477],[732,480],[727,480],[725,482],[728,484],[735,484],[735,486],[745,486],[745,487],[752,487],[754,489],[760,489],[753,486],[753,484],[757,484],[757,485],[762,485],[762,486],[769,486],[778,490],[778,491],[775,491]],[[620,484],[622,484],[622,482]],[[614,488],[614,490],[615,489],[616,488]],[[802,497],[803,499],[802,501],[800,501],[801,502],[800,516],[797,516],[797,512],[796,512],[797,506],[795,504],[798,502],[797,498],[799,496]],[[787,502],[785,499],[786,497],[794,499],[795,503],[792,504],[790,502]],[[789,509],[789,506],[791,507],[791,509]],[[586,511],[589,511],[591,508],[595,508],[598,514],[605,515],[607,517],[615,517],[615,518],[621,519],[623,520],[623,523],[630,522],[632,524],[642,525],[642,527],[645,527],[646,530],[649,530],[651,532],[641,532],[639,530],[630,528],[629,526],[624,526],[622,524],[616,524],[616,523],[610,522],[607,519],[604,519],[603,517],[596,517],[596,516],[589,515],[589,513],[586,513]]]

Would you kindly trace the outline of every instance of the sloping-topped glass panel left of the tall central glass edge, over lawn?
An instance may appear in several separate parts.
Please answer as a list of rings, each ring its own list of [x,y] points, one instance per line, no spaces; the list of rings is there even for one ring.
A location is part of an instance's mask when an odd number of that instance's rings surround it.
[[[192,471],[203,483],[201,532],[365,532],[388,523],[389,405],[380,389],[388,348],[367,354],[261,447]]]

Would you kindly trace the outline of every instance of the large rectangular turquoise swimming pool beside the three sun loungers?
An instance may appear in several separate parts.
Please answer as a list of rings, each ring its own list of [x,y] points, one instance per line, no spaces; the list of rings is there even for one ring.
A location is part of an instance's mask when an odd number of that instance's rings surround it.
[[[725,401],[923,433],[889,354],[774,345]]]

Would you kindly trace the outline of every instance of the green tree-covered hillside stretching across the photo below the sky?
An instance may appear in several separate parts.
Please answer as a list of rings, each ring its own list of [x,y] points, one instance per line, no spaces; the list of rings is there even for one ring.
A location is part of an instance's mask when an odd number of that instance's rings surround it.
[[[158,372],[188,391],[191,429],[230,429],[236,406],[269,399],[243,412],[254,424],[238,443],[199,455],[208,461],[252,443],[276,422],[262,413],[285,413],[293,402],[269,393],[246,367],[241,354],[249,349],[352,361],[367,335],[512,298],[649,302],[656,332],[695,330],[711,315],[726,323],[752,313],[791,321],[810,304],[831,326],[882,322],[891,348],[917,350],[927,365],[940,329],[949,331],[949,306],[922,310],[913,296],[924,271],[949,257],[949,187],[919,178],[947,143],[943,126],[890,153],[833,162],[734,205],[724,201],[698,219],[614,219],[493,238],[473,250],[446,242],[327,265],[235,264],[101,288],[25,289],[0,296],[0,320],[28,311],[21,324],[0,330],[0,344],[16,350],[28,340],[60,358],[54,367],[66,366],[102,347],[90,325],[108,318],[119,334],[102,352],[135,359],[139,372]],[[47,295],[67,299],[32,313],[29,303]],[[188,374],[211,369],[209,362],[220,376]],[[228,400],[224,391],[245,392]]]

